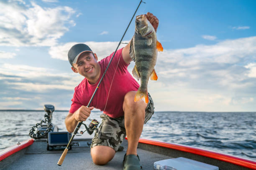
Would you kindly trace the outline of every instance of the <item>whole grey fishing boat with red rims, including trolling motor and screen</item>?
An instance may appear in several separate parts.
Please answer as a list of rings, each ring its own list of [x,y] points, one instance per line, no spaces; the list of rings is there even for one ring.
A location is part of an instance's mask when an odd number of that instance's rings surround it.
[[[49,109],[50,107],[52,110]],[[46,122],[46,125],[40,124],[41,127],[37,127],[37,132],[41,134],[43,134],[41,131],[46,130],[47,125],[49,127],[49,124],[47,123],[51,122],[51,113],[54,111],[52,105],[45,105],[44,108],[46,110],[45,118],[48,122]],[[51,110],[51,112],[47,109]],[[70,140],[71,134],[68,132],[59,132],[55,125],[52,125],[52,127],[54,128],[51,128],[51,131],[47,134],[48,136],[44,135],[38,139],[31,138],[23,142],[18,142],[17,145],[13,145],[0,151],[0,170],[123,169],[123,157],[128,147],[127,139],[121,144],[123,150],[118,151],[113,160],[106,165],[95,165],[90,155],[90,144],[92,136],[94,135],[89,135],[87,133],[78,133],[74,136],[72,145],[69,148],[63,163],[61,166],[57,165],[59,158],[68,145],[67,143]],[[31,130],[33,129],[34,127]],[[154,170],[154,168],[162,168],[166,170],[199,170],[200,168],[192,168],[197,165],[198,167],[214,167],[212,170],[256,170],[256,161],[254,160],[200,148],[193,148],[186,145],[143,138],[140,138],[139,140],[137,153],[140,157],[140,163],[143,170]],[[164,166],[164,164],[156,164],[163,163],[164,161],[169,163],[168,166]],[[176,168],[171,164],[174,162],[177,163],[175,164]],[[177,168],[177,166],[179,168]]]

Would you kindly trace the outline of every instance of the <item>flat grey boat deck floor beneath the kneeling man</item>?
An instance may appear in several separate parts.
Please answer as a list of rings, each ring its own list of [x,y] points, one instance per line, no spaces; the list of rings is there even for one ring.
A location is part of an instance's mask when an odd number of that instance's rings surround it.
[[[127,149],[127,140],[124,140],[123,151],[118,151],[113,160],[106,165],[95,165],[90,155],[90,147],[87,142],[91,140],[74,140],[79,146],[73,146],[66,155],[61,166],[57,165],[63,150],[48,151],[45,140],[35,140],[33,145],[25,148],[23,154],[5,170],[121,170],[123,168],[123,157]],[[19,151],[19,152],[21,152]],[[154,170],[154,162],[169,159],[171,157],[153,153],[138,148],[138,155],[144,170]],[[0,168],[1,169],[1,168]]]

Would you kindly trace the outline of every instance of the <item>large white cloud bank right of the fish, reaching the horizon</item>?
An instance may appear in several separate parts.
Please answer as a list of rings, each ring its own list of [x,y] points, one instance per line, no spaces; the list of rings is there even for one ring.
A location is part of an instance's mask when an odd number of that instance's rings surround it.
[[[255,44],[256,37],[247,37],[159,52],[158,80],[149,80],[157,110],[252,110],[256,63],[248,61],[256,60]]]

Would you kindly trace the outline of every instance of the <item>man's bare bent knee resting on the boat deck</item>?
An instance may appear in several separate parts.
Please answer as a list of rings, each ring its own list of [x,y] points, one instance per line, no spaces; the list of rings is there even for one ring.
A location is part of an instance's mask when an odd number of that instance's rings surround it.
[[[96,165],[105,165],[115,156],[115,150],[108,146],[95,146],[91,149],[92,161]]]

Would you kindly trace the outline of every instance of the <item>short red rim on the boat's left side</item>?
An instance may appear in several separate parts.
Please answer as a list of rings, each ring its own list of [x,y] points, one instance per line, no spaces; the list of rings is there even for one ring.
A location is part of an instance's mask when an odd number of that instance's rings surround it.
[[[13,155],[14,153],[27,148],[28,146],[32,145],[34,143],[34,139],[25,140],[20,143],[20,145],[13,145],[9,148],[6,148],[2,151],[0,151],[0,161],[7,158],[10,155]]]

